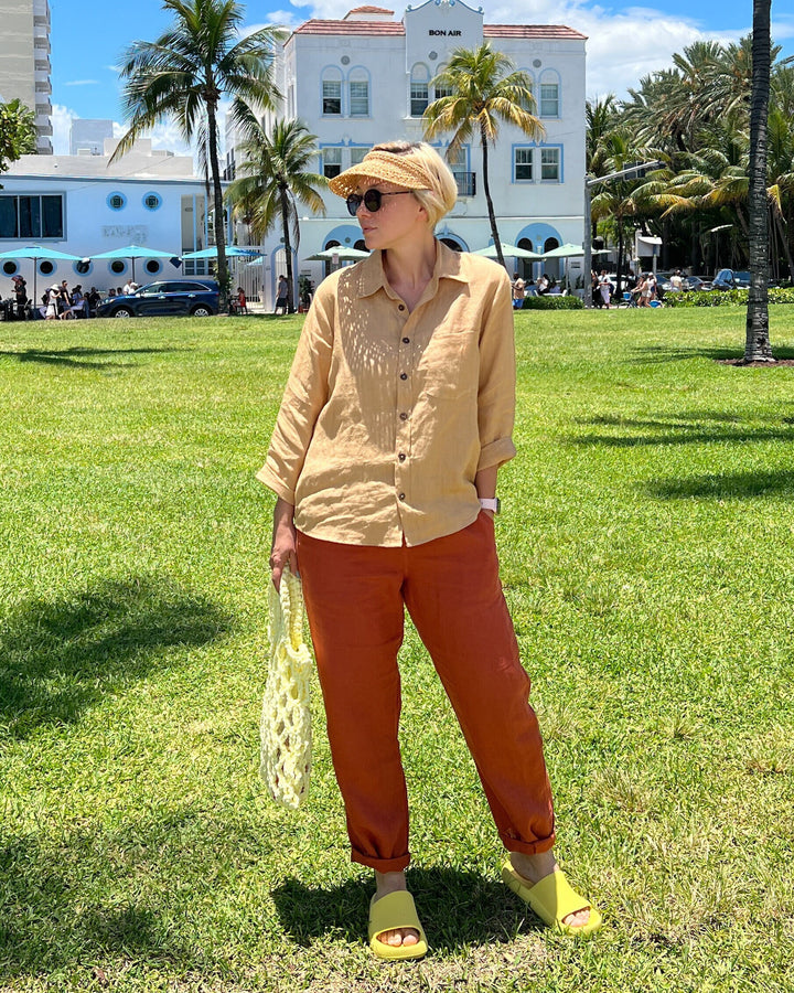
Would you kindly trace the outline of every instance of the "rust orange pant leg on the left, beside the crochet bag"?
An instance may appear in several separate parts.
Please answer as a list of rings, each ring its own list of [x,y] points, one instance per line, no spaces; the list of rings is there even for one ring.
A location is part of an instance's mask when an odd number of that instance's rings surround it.
[[[410,862],[397,738],[400,549],[299,533],[297,553],[352,858],[382,873],[397,872]]]

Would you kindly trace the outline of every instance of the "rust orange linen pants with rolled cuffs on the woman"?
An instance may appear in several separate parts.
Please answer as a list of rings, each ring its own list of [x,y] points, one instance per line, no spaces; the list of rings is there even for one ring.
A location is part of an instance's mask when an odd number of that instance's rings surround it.
[[[297,553],[353,861],[382,873],[410,862],[397,740],[404,604],[458,715],[505,847],[550,848],[551,790],[491,517],[481,513],[455,534],[401,548],[299,532]]]

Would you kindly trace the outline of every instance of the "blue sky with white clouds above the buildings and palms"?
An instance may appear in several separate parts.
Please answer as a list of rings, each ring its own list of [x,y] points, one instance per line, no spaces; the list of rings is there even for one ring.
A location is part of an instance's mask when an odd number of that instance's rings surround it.
[[[246,4],[246,23],[294,26],[310,17],[343,17],[361,2],[251,0]],[[610,4],[609,0],[471,0],[470,6],[480,3],[490,23],[568,24],[587,34],[591,97],[609,90],[622,95],[642,75],[669,65],[673,52],[690,42],[730,42],[747,33],[752,23],[752,0],[700,0],[699,4],[665,0],[644,7]],[[139,39],[157,38],[170,18],[160,0],[50,0],[50,4],[55,150],[66,151],[63,143],[67,141],[72,117],[122,120],[115,70],[120,53]],[[401,17],[405,9],[405,3],[383,6],[394,9],[396,17]],[[773,0],[772,20],[773,36],[783,46],[783,54],[794,54],[794,4]],[[155,145],[174,143],[174,136],[167,128],[154,138]]]

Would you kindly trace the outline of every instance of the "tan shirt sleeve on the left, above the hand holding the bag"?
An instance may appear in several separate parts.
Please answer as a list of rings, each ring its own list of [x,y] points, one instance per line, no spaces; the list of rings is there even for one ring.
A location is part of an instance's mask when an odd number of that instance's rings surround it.
[[[256,476],[288,503],[296,502],[309,442],[328,401],[335,293],[330,286],[324,289],[314,298],[303,323],[267,459]]]

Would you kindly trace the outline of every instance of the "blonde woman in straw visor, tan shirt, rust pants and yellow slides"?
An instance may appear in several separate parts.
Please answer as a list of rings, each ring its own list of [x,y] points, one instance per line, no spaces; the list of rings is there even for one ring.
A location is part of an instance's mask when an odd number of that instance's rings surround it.
[[[272,580],[286,565],[303,579],[352,858],[375,871],[371,948],[427,951],[405,878],[404,606],[511,853],[505,883],[549,925],[590,933],[598,911],[556,871],[543,745],[498,581],[496,473],[515,455],[509,279],[433,237],[457,194],[429,146],[376,146],[330,186],[372,255],[319,287],[258,478],[278,496]]]

